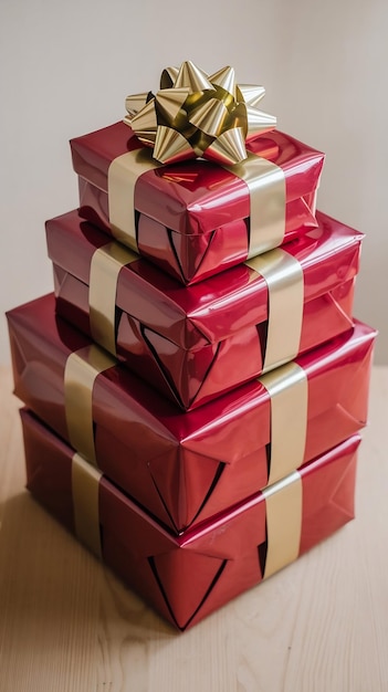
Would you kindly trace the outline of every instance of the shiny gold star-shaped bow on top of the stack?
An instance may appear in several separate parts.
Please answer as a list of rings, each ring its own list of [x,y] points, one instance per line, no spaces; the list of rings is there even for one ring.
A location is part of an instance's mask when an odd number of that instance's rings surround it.
[[[203,157],[221,165],[247,158],[245,141],[276,126],[258,111],[263,86],[237,84],[233,67],[209,76],[190,61],[167,67],[154,96],[127,96],[124,123],[161,164]]]

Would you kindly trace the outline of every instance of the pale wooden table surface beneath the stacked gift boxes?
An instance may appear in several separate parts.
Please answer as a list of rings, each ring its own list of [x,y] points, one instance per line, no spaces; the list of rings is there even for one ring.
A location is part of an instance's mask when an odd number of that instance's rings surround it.
[[[176,633],[24,490],[0,370],[1,692],[387,692],[388,368],[375,368],[357,518]]]

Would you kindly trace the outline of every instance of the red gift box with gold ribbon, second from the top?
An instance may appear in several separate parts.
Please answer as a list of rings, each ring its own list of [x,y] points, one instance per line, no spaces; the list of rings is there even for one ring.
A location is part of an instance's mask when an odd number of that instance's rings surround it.
[[[46,223],[57,313],[190,410],[352,327],[363,234],[317,219],[282,250],[181,286],[124,249],[113,265],[106,235],[72,211]]]

